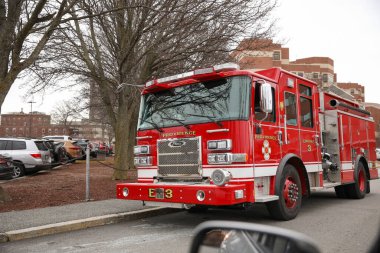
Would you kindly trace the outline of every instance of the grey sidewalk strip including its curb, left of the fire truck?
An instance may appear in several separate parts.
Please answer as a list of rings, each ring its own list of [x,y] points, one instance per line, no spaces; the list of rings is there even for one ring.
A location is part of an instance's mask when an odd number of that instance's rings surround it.
[[[176,211],[118,199],[0,213],[0,242],[68,232]]]

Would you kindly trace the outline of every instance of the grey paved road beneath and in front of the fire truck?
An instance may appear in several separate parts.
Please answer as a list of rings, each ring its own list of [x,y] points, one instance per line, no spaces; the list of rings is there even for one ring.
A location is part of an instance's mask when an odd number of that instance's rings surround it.
[[[0,252],[187,252],[199,223],[239,220],[296,230],[314,238],[323,252],[366,252],[380,226],[380,180],[362,200],[337,199],[333,191],[314,193],[292,221],[270,219],[266,209],[179,212],[71,233],[0,244]]]

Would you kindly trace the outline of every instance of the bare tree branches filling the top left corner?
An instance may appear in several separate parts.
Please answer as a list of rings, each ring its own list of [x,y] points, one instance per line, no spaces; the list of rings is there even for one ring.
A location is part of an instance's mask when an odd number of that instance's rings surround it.
[[[41,60],[46,44],[74,3],[0,0],[0,105],[20,73]]]

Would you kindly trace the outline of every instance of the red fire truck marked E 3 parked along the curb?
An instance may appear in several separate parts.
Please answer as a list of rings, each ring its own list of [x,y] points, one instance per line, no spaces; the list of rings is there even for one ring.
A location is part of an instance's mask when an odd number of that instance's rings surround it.
[[[370,113],[279,68],[226,63],[149,81],[136,139],[138,181],[118,184],[117,198],[149,206],[264,202],[290,220],[312,191],[360,199],[378,178]]]

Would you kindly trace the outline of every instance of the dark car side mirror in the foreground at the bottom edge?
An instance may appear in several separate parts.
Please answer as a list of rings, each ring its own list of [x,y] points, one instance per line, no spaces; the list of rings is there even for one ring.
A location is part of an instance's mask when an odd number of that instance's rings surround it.
[[[195,228],[191,253],[320,253],[307,236],[266,225],[208,221]]]

